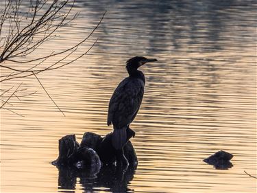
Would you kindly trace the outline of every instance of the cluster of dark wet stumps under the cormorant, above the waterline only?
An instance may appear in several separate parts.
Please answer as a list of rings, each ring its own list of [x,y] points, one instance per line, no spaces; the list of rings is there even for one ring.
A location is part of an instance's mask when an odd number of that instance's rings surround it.
[[[124,155],[130,165],[136,166],[138,160],[136,152],[129,139],[134,131],[127,129],[127,144]],[[113,165],[116,161],[115,149],[112,147],[112,133],[101,137],[95,133],[84,133],[82,141],[76,141],[75,135],[66,135],[59,140],[59,157],[53,161],[55,166],[75,166],[88,168],[90,173],[99,172],[101,166]]]

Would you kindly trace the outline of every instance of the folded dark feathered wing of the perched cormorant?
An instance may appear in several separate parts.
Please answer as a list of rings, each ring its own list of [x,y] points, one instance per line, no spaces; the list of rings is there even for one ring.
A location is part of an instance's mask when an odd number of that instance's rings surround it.
[[[109,103],[108,126],[122,128],[130,124],[140,107],[144,94],[144,82],[138,78],[125,78],[115,89]]]

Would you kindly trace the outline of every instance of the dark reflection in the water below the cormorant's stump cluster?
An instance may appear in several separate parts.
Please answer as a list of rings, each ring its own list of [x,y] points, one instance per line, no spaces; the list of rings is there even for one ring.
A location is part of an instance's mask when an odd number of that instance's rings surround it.
[[[127,170],[117,170],[115,166],[102,166],[101,168],[77,168],[75,166],[58,167],[58,188],[59,192],[73,192],[79,178],[79,184],[84,192],[98,192],[103,188],[110,189],[110,192],[134,192],[127,188],[132,181],[136,165],[130,165]]]

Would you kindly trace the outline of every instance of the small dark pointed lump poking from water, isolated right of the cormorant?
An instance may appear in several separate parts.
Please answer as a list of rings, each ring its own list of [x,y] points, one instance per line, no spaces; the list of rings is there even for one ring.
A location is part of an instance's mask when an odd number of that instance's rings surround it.
[[[233,155],[229,152],[225,152],[223,150],[220,150],[218,152],[215,152],[214,155],[211,155],[210,157],[204,159],[204,162],[215,166],[218,170],[226,170],[228,168],[232,168],[233,164],[230,162],[230,159],[232,159]]]

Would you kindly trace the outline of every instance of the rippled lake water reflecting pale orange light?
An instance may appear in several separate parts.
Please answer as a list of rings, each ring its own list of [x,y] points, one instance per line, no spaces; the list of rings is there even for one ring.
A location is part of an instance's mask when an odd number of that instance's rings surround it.
[[[256,192],[244,172],[256,176],[256,1],[80,0],[73,27],[37,53],[82,40],[105,10],[75,54],[99,38],[86,56],[38,74],[65,117],[33,76],[1,83],[37,91],[6,104],[20,115],[1,109],[1,192]],[[58,139],[111,132],[108,101],[132,56],[158,59],[141,68],[145,95],[131,125],[137,169],[122,180],[59,171],[50,163]],[[218,150],[234,155],[232,168],[202,161]]]

